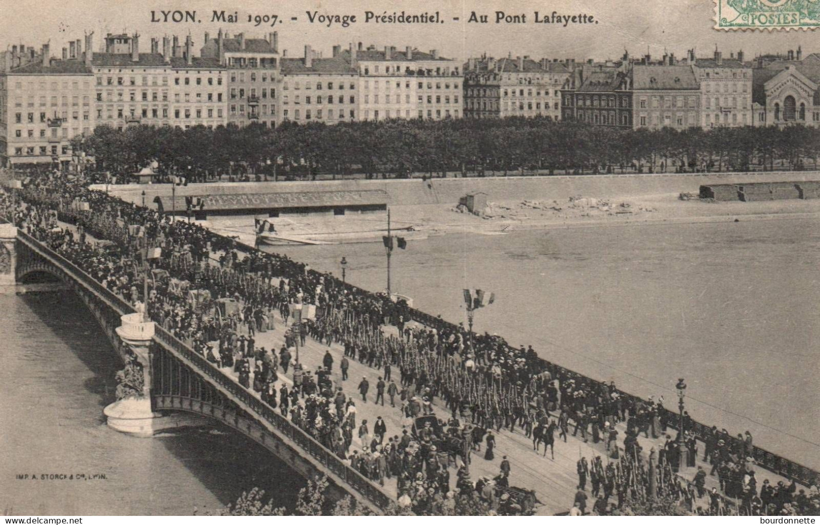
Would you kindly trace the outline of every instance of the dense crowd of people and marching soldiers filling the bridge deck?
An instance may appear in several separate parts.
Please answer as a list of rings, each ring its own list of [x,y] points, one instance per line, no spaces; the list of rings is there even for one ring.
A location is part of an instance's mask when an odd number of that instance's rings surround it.
[[[647,494],[671,497],[696,512],[695,495],[704,497],[704,471],[690,482],[674,472],[695,466],[699,440],[722,491],[710,491],[710,504],[702,512],[726,513],[727,498],[740,502],[742,514],[817,512],[816,487],[806,493],[796,491],[794,482],[777,487],[764,482],[758,491],[748,432],[735,438],[713,428],[707,437],[696,438],[685,414],[682,441],[688,462],[681,464],[677,437],[667,433],[674,422],[663,398],[626,396],[614,383],[568,373],[540,360],[532,347],[513,348],[489,333],[471,335],[462,324],[412,323],[403,301],[344,285],[287,256],[240,247],[198,224],[89,190],[88,183],[83,176],[59,172],[31,177],[24,188],[5,195],[2,206],[19,228],[138,310],[147,309],[157,324],[215,366],[235,373],[240,384],[362,475],[382,485],[396,478],[401,505],[421,511],[442,505],[453,493],[476,491],[499,512],[520,514],[521,505],[502,490],[508,486],[508,463],[505,472],[502,462],[495,479],[472,482],[471,453],[483,445],[484,458],[493,460],[493,432],[518,427],[536,451],[543,444],[544,455],[548,447],[554,454],[555,442],[567,441],[572,422],[573,436],[606,449],[605,466],[600,457],[578,464],[579,494],[590,477],[597,514],[612,512],[610,496],[617,497],[614,505],[621,509],[629,498]],[[315,315],[303,318],[308,305]],[[276,313],[291,321],[278,351],[255,340],[258,333],[276,329]],[[304,346],[306,337],[344,347],[342,381],[331,378],[335,359],[330,351],[315,372],[295,362],[294,347]],[[356,396],[344,390],[348,359],[379,371],[376,402],[384,405],[386,393],[389,405],[401,411],[401,435],[389,437],[380,419],[357,421]],[[290,387],[279,375],[289,371]],[[367,401],[366,378],[357,391]],[[434,404],[446,406],[449,418],[434,417],[414,428],[419,418],[434,414]],[[626,423],[622,439],[618,423]],[[654,449],[640,445],[641,434],[645,439],[666,436],[657,457]],[[451,483],[453,465],[458,474]],[[584,513],[585,497],[577,496],[576,502]]]

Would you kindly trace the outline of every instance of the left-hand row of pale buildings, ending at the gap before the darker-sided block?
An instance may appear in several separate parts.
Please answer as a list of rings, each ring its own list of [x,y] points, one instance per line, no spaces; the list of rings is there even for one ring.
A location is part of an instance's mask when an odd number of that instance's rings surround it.
[[[436,50],[333,48],[322,57],[305,46],[299,57],[267,38],[204,34],[152,38],[93,34],[71,41],[62,57],[49,44],[12,46],[0,53],[0,165],[67,164],[71,138],[106,124],[211,128],[253,122],[335,124],[391,118],[462,116],[462,65]]]

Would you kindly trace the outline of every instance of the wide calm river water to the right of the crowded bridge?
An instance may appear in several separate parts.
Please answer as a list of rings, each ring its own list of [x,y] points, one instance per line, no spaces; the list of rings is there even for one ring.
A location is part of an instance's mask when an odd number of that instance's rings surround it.
[[[449,234],[392,257],[394,292],[453,322],[462,288],[495,293],[476,331],[615,381],[820,468],[818,220]],[[348,282],[385,288],[380,243],[281,247]]]

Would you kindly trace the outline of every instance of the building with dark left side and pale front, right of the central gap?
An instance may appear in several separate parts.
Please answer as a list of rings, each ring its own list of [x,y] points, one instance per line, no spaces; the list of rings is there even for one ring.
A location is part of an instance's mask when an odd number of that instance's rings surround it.
[[[471,58],[464,70],[464,116],[543,115],[560,120],[560,90],[569,74],[563,63],[546,58]]]

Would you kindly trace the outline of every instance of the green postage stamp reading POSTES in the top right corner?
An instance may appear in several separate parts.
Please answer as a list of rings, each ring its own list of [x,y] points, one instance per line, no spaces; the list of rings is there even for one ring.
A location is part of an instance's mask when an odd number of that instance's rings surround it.
[[[715,29],[815,29],[820,0],[715,0]]]

